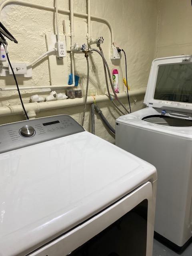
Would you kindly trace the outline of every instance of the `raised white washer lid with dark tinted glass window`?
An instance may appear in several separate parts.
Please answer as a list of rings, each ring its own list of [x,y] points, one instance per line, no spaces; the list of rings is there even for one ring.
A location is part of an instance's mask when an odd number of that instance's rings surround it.
[[[192,111],[192,56],[152,62],[144,104],[153,108]]]

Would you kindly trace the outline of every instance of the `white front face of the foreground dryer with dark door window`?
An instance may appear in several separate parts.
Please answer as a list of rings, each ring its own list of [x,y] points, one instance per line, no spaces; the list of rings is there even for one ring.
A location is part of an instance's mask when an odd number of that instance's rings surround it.
[[[152,256],[154,194],[146,182],[30,256]]]

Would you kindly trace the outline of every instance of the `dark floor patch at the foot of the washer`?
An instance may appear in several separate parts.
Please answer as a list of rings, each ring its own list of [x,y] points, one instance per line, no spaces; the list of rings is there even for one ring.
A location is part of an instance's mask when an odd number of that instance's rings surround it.
[[[161,244],[157,240],[154,239],[153,244],[153,256],[192,256],[192,243],[179,254],[177,252],[172,251],[170,248],[166,247],[164,244]]]

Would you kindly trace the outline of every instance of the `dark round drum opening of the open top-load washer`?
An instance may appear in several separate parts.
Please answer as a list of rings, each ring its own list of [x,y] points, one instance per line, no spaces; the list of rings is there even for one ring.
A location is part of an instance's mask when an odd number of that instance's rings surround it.
[[[164,126],[187,127],[192,126],[192,121],[186,119],[173,118],[170,116],[152,115],[142,118],[143,121],[160,124]]]

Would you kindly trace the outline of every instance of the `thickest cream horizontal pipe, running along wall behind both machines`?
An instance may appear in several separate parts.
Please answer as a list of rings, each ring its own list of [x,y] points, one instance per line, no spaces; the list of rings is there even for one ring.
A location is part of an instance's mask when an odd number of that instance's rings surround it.
[[[129,96],[138,96],[143,95],[146,92],[146,88],[132,90],[129,92]],[[127,92],[120,92],[118,94],[118,98],[125,98],[127,97]],[[97,102],[104,102],[109,100],[107,95],[97,95],[97,96],[88,96],[87,97],[87,104],[94,103],[94,98],[96,103]],[[115,99],[115,96],[112,96]],[[25,103],[24,107],[26,112],[32,114],[32,117],[35,117],[35,114],[40,111],[52,110],[57,108],[66,108],[72,106],[79,106],[84,104],[84,98],[75,98],[75,99],[67,99],[67,100],[55,100],[50,102],[32,102],[32,103]],[[8,116],[8,115],[16,115],[16,114],[23,114],[23,109],[21,105],[14,105],[14,106],[3,106],[0,107],[0,116]]]

